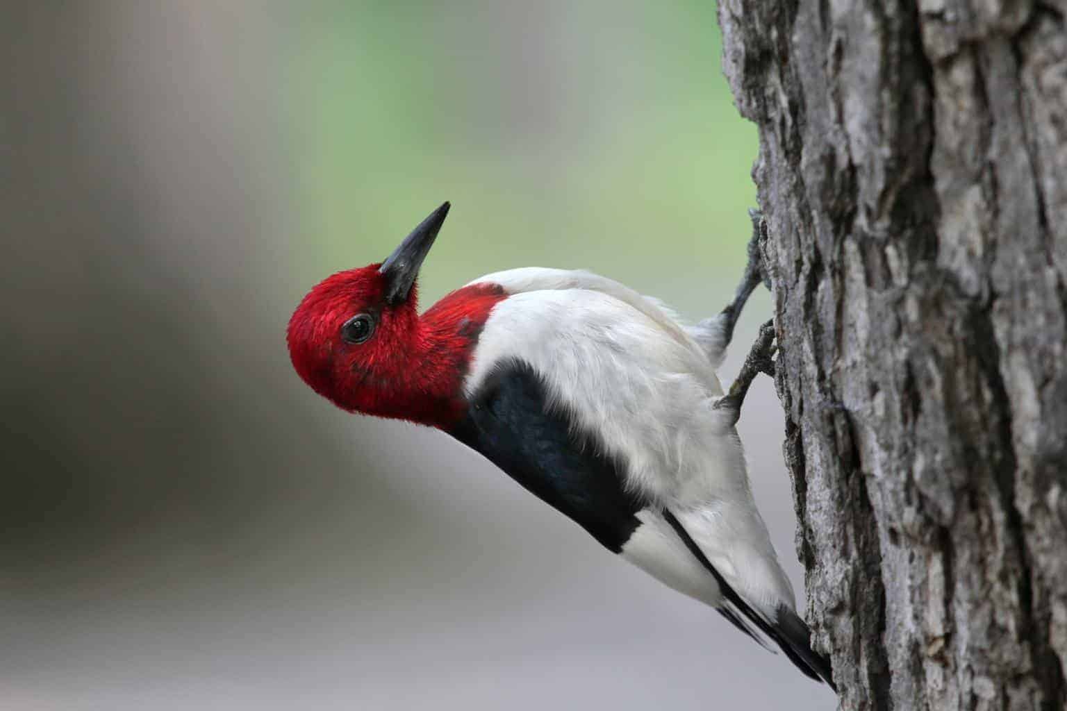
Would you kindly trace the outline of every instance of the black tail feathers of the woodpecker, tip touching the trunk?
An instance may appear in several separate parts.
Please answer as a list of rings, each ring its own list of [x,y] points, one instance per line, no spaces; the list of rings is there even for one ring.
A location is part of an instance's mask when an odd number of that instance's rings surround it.
[[[815,681],[825,681],[830,685],[830,689],[837,693],[838,688],[833,683],[832,669],[830,668],[830,660],[825,656],[819,655],[814,649],[811,648],[811,630],[808,625],[805,624],[800,617],[786,608],[785,605],[780,605],[778,608],[776,619],[771,623],[766,617],[761,615],[759,612],[753,610],[748,602],[745,601],[740,595],[737,594],[733,587],[727,583],[726,579],[722,577],[712,562],[707,560],[704,555],[704,551],[700,549],[700,546],[692,539],[689,533],[682,526],[682,522],[675,518],[669,510],[664,510],[664,518],[670,523],[674,532],[678,533],[679,537],[685,544],[686,548],[689,549],[700,564],[707,569],[708,572],[715,578],[715,582],[719,584],[719,589],[722,591],[722,596],[726,598],[728,607],[719,609],[719,612],[735,627],[740,629],[743,632],[749,636],[755,639],[748,625],[744,625],[740,618],[737,617],[734,609],[740,612],[743,615],[748,617],[761,632],[766,634],[768,637],[774,640],[785,656],[793,662],[800,672],[806,676],[811,677]],[[757,640],[759,641],[759,640]]]

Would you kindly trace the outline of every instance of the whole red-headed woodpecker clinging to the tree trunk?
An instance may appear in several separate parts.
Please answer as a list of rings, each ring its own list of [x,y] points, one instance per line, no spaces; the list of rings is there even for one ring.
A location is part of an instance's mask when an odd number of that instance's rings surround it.
[[[540,268],[482,276],[419,314],[448,209],[303,298],[287,330],[300,377],[350,413],[447,433],[833,688],[752,499],[734,427],[747,383],[724,393],[715,372],[760,279],[751,249],[737,298],[696,325],[611,279]]]

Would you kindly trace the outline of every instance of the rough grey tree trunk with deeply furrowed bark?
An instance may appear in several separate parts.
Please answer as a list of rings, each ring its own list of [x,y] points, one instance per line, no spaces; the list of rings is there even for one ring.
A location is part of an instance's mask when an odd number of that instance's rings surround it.
[[[1065,15],[720,0],[844,709],[1067,706]]]

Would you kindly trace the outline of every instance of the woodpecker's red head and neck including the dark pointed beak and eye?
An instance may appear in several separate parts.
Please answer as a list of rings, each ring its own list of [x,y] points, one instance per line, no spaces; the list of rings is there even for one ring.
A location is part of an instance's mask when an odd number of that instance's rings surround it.
[[[469,324],[475,317],[484,322],[499,295],[467,288],[450,306],[446,298],[418,316],[416,277],[448,207],[384,262],[324,279],[289,320],[293,368],[339,407],[443,429],[462,417],[462,378],[477,338]]]

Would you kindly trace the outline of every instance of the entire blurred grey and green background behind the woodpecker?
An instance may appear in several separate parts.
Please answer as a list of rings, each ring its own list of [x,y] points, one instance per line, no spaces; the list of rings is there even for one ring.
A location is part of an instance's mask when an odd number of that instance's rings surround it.
[[[721,308],[757,136],[711,3],[0,12],[0,708],[833,707],[285,349],[310,286],[444,199],[424,304],[543,265]],[[767,378],[740,430],[802,598]]]

